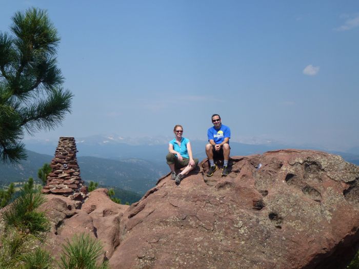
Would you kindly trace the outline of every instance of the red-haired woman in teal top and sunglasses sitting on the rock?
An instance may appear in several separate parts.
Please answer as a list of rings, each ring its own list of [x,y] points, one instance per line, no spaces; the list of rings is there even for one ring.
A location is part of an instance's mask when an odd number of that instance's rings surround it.
[[[185,175],[189,171],[193,170],[198,164],[198,159],[193,159],[192,148],[190,141],[182,137],[183,128],[181,125],[176,125],[173,128],[175,138],[169,142],[168,151],[166,156],[167,164],[171,169],[171,179],[174,179],[176,183],[181,182]],[[178,175],[175,169],[185,168]]]

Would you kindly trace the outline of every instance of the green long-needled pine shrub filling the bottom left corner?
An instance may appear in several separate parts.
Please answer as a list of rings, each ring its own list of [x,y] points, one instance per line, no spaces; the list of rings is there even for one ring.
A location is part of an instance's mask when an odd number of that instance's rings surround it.
[[[28,187],[31,187],[31,182]],[[45,214],[36,211],[44,201],[41,193],[26,188],[2,213],[5,233],[1,237],[0,268],[52,268],[46,251],[32,250],[33,245],[45,239],[50,230]]]

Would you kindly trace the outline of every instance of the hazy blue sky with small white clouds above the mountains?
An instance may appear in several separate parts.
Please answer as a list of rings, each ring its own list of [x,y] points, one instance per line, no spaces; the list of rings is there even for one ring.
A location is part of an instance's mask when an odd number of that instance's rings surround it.
[[[0,1],[0,31],[48,10],[73,112],[38,138],[94,134],[359,146],[358,1]]]

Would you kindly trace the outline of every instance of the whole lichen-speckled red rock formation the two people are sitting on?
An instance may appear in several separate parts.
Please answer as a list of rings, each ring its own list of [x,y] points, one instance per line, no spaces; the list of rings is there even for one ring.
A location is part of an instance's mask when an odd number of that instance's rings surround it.
[[[49,249],[84,231],[102,241],[111,268],[345,268],[359,246],[356,165],[279,150],[232,157],[229,169],[206,177],[205,159],[179,185],[167,175],[131,206],[105,189],[80,210],[49,196]]]

